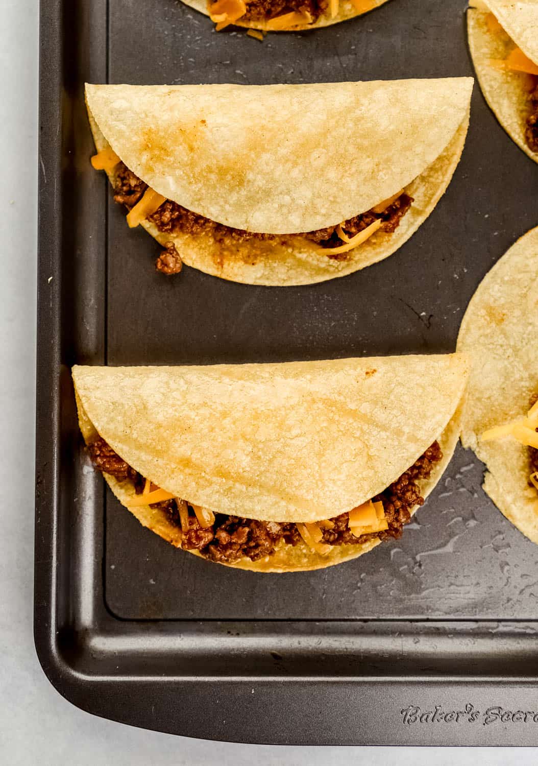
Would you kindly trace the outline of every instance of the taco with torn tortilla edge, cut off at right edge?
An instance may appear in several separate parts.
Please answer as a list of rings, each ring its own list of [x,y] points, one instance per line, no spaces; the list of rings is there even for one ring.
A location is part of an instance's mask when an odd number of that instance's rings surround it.
[[[484,489],[538,542],[538,228],[484,277],[465,312],[458,350],[471,360],[461,442],[485,463]]]

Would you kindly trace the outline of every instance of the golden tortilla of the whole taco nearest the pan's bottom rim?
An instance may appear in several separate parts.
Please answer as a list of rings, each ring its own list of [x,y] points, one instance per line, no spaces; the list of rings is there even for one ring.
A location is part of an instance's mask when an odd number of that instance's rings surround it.
[[[467,362],[403,356],[207,367],[75,367],[80,429],[103,437],[130,466],[176,496],[217,513],[264,521],[316,521],[351,510],[404,473],[437,439],[439,480],[458,438]],[[129,481],[106,476],[142,525],[181,544],[160,509],[129,507]],[[255,571],[321,568],[328,556],[282,544]]]

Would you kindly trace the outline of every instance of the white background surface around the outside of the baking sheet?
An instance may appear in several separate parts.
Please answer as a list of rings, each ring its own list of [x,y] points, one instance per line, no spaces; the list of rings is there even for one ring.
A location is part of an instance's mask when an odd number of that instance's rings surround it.
[[[160,735],[96,719],[48,683],[32,637],[37,51],[37,0],[0,0],[0,487],[8,499],[0,536],[0,763],[536,764],[538,748],[283,748]]]

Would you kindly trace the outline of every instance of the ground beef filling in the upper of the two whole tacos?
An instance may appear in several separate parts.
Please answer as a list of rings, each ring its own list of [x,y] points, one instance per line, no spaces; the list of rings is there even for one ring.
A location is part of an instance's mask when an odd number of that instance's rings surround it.
[[[119,163],[116,167],[114,182],[114,199],[116,202],[120,205],[126,205],[126,208],[130,210],[142,198],[146,188],[148,188],[147,185],[138,176],[122,162]],[[342,224],[342,228],[348,235],[354,236],[354,234],[358,234],[367,226],[373,224],[373,221],[380,219],[380,231],[384,231],[386,234],[393,234],[399,226],[399,221],[401,221],[411,207],[412,201],[412,197],[403,192],[382,213],[374,213],[372,210],[369,210],[345,221]],[[204,218],[203,215],[198,215],[191,210],[187,210],[187,208],[182,208],[177,202],[172,202],[169,199],[163,202],[161,207],[148,217],[148,220],[152,221],[158,228],[158,231],[161,231],[163,234],[209,234],[217,242],[232,240],[239,244],[253,239],[269,241],[286,239],[285,234],[261,234],[253,231],[244,231],[243,229],[234,229],[224,224],[217,224],[216,221],[211,221],[210,218]],[[302,231],[294,236],[305,237],[305,239],[319,244],[322,248],[337,247],[342,244],[340,237],[336,233],[335,226],[317,229],[316,231]],[[346,258],[347,254],[333,255],[329,253],[328,257],[340,260],[341,258]]]

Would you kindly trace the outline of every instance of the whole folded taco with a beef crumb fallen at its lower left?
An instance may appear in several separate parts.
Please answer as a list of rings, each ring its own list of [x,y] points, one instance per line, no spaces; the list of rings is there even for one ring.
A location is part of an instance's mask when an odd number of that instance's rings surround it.
[[[386,258],[428,217],[472,83],[87,85],[92,162],[129,226],[165,246],[159,270],[320,282]]]

